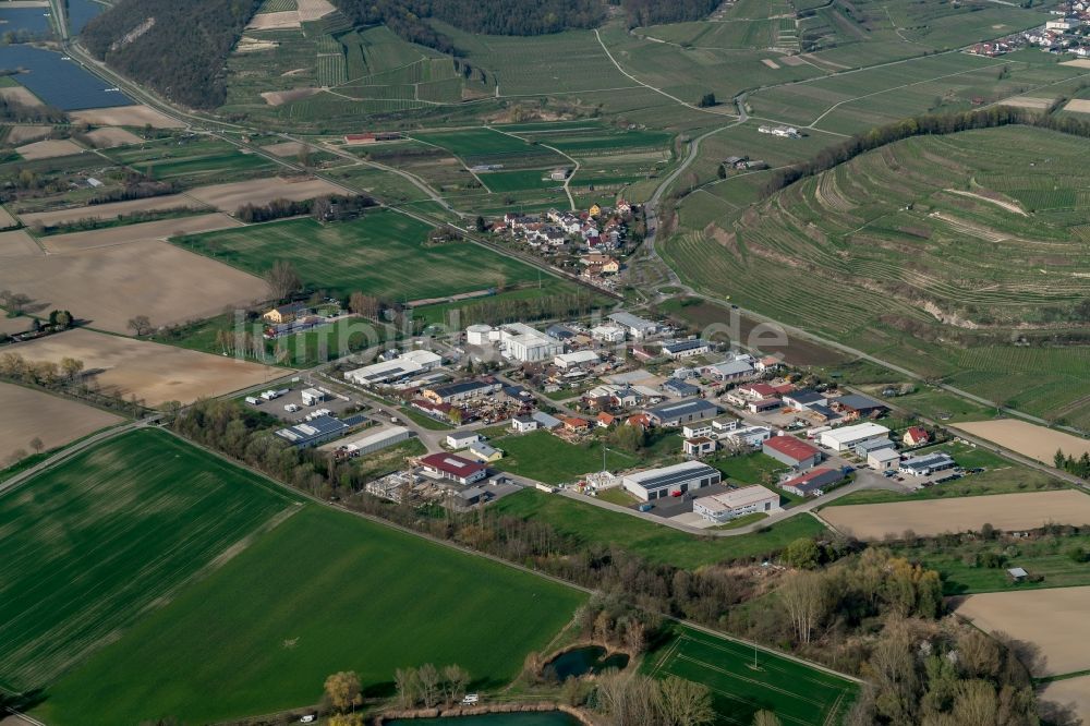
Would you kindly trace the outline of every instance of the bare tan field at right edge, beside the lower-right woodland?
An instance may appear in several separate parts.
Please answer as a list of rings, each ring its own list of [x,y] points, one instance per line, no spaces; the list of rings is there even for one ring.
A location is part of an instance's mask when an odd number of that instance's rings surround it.
[[[990,592],[954,603],[957,615],[990,633],[1006,633],[1039,649],[1026,663],[1041,678],[1090,669],[1090,586]]]

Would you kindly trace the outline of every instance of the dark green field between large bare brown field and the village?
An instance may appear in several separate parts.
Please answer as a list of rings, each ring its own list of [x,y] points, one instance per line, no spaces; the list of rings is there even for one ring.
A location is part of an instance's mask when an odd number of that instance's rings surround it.
[[[426,246],[428,231],[411,217],[373,211],[349,222],[293,219],[173,242],[256,275],[286,259],[312,287],[338,295],[360,290],[401,302],[536,282],[540,276],[524,263],[470,242]]]

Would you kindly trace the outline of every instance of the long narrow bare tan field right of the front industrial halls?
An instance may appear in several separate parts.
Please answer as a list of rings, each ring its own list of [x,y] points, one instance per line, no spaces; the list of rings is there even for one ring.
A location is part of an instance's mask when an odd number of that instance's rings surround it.
[[[1032,530],[1049,523],[1090,524],[1090,496],[1076,489],[997,494],[958,499],[826,507],[829,524],[859,540],[900,539],[906,532],[934,536],[978,531],[984,524],[1004,530]]]

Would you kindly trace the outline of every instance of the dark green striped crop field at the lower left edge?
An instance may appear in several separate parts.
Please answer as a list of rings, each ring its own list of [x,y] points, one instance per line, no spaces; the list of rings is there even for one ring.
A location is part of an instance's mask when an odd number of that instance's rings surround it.
[[[38,474],[0,498],[0,687],[46,686],[294,506],[158,431]]]

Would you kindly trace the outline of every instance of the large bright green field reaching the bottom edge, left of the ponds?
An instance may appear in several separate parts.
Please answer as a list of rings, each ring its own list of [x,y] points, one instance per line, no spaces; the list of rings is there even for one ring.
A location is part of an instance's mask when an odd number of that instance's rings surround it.
[[[585,595],[359,517],[308,505],[49,688],[35,715],[102,726],[213,723],[317,703],[330,673],[367,692],[457,663],[513,678]]]

